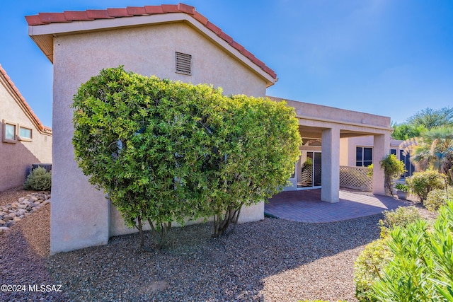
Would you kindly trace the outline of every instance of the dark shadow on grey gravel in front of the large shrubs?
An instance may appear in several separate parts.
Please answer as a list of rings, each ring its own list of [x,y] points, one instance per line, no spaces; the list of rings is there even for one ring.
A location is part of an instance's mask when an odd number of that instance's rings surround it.
[[[171,230],[168,248],[149,253],[132,234],[54,255],[48,269],[74,301],[265,301],[265,278],[371,242],[380,218],[265,219],[224,238],[211,237],[210,223],[185,226]]]

